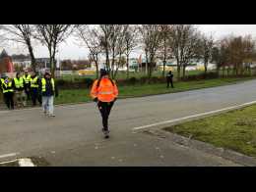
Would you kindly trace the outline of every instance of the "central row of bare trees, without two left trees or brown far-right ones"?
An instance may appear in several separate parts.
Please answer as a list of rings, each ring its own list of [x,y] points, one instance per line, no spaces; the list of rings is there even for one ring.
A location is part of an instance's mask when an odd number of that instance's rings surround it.
[[[129,77],[129,57],[133,50],[142,49],[146,58],[145,72],[152,76],[156,59],[166,61],[175,58],[178,78],[193,61],[204,59],[206,72],[211,59],[214,40],[199,32],[193,24],[97,24],[78,25],[76,34],[90,50],[90,57],[98,64],[99,56],[104,56],[108,72],[114,78],[126,57],[127,77]],[[97,68],[96,68],[97,69]]]

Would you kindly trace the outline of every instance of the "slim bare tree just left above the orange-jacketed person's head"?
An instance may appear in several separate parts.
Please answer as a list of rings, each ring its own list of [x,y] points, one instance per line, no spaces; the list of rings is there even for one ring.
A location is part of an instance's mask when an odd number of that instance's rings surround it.
[[[90,54],[89,58],[91,61],[94,61],[96,64],[96,78],[98,77],[98,58],[99,54],[102,52],[100,46],[100,38],[98,31],[95,26],[90,26],[86,24],[78,25],[76,30],[76,36],[82,40],[88,47]]]

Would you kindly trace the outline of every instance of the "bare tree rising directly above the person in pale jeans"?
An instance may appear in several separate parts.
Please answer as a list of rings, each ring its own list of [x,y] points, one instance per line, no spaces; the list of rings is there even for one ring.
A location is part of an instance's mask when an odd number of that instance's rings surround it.
[[[57,46],[73,31],[73,24],[36,24],[35,37],[47,46],[52,75],[55,76]]]

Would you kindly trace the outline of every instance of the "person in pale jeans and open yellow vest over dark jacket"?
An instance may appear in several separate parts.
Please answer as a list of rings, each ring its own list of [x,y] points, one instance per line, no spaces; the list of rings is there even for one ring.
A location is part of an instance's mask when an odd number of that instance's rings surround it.
[[[40,81],[40,92],[42,96],[42,110],[44,115],[49,117],[55,117],[53,114],[54,107],[54,95],[58,97],[58,89],[55,80],[51,77],[50,72],[45,72],[43,78]]]

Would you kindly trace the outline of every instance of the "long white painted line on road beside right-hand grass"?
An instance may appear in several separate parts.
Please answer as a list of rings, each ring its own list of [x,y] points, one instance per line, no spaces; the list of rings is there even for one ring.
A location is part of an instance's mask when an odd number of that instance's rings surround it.
[[[224,112],[224,111],[235,110],[235,109],[239,109],[239,108],[242,108],[242,107],[250,106],[250,105],[253,105],[253,104],[256,104],[256,101],[252,101],[252,102],[244,103],[244,104],[241,104],[241,105],[236,105],[236,106],[224,108],[224,109],[221,109],[221,110],[215,110],[215,111],[211,111],[211,112],[195,114],[195,115],[192,115],[192,116],[187,116],[187,117],[178,118],[178,119],[174,119],[174,120],[164,120],[164,121],[156,122],[156,123],[153,123],[153,124],[148,124],[148,125],[134,127],[132,129],[133,130],[140,130],[140,129],[145,129],[145,128],[149,128],[149,127],[157,126],[157,125],[161,125],[161,124],[177,122],[177,121],[180,121],[180,120],[189,120],[189,119],[198,118],[198,117],[202,117],[202,116],[218,114],[218,113]]]

